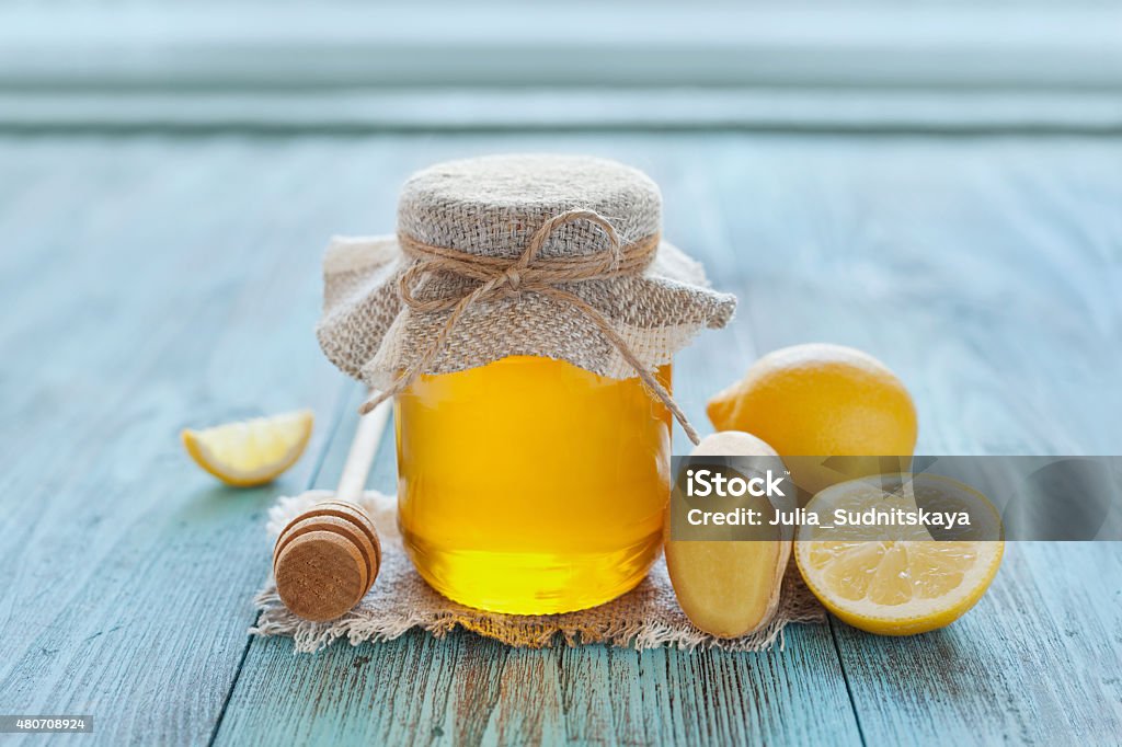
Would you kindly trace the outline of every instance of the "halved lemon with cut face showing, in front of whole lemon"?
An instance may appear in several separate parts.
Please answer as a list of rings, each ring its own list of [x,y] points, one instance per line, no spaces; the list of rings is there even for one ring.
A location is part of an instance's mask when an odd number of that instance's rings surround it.
[[[885,478],[898,478],[895,481]],[[846,516],[966,511],[955,529],[834,525]],[[990,588],[1004,542],[993,505],[973,488],[939,476],[876,476],[842,482],[807,504],[821,526],[803,525],[794,556],[810,591],[835,616],[867,633],[904,636],[950,625]],[[867,515],[867,514],[866,514]],[[837,523],[840,524],[840,523]]]

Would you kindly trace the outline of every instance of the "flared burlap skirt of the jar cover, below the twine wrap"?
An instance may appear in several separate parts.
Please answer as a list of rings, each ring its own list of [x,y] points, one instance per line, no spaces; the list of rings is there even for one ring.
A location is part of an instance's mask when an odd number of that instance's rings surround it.
[[[401,371],[417,363],[449,319],[449,312],[419,313],[403,305],[398,280],[407,267],[393,236],[335,237],[323,261],[320,348],[341,371],[374,389],[392,387]],[[459,297],[471,284],[431,277],[424,287],[426,298]],[[701,265],[665,241],[641,275],[565,288],[604,314],[646,370],[671,362],[702,330],[724,328],[736,310],[735,296],[712,290]],[[608,378],[635,376],[583,311],[545,294],[473,304],[448,332],[445,345],[424,372],[536,356]]]

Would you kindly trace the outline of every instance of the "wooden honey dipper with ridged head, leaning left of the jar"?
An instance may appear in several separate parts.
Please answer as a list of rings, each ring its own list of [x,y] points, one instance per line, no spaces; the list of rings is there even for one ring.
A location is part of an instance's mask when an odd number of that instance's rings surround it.
[[[277,592],[305,620],[333,620],[355,608],[381,566],[374,522],[358,505],[389,415],[383,403],[359,418],[332,500],[320,501],[285,526],[273,548]]]

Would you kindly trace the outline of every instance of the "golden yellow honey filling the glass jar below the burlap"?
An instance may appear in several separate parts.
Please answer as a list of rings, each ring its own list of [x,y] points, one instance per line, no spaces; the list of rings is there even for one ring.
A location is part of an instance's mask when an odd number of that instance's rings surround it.
[[[657,374],[669,389],[671,367]],[[564,612],[646,575],[662,543],[671,432],[637,378],[511,357],[421,376],[394,414],[398,526],[444,596]]]

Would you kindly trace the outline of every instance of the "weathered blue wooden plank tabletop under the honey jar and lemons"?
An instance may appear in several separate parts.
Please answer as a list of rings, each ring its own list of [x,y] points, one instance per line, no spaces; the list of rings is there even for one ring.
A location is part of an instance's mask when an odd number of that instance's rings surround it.
[[[248,637],[266,510],[332,486],[355,423],[312,333],[329,236],[392,230],[412,169],[498,150],[661,183],[668,237],[741,297],[678,361],[696,422],[760,353],[825,340],[902,376],[921,453],[1122,450],[1118,138],[9,135],[0,712],[93,714],[52,744],[1122,741],[1109,543],[1012,544],[971,614],[913,638],[833,619],[760,654]],[[315,435],[274,486],[221,487],[178,443],[300,406]]]

